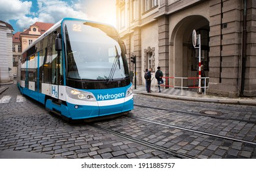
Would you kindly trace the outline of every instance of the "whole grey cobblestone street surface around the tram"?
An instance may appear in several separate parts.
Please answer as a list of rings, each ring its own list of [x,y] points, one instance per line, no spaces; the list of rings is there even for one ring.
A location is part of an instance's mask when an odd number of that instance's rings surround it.
[[[51,158],[175,158],[87,123],[65,122],[49,114],[42,104],[20,96],[15,84],[8,87],[0,95],[0,156],[8,150]],[[145,95],[134,95],[134,104],[128,115],[94,125],[194,158],[256,158],[255,106]],[[200,115],[202,111],[221,115]]]

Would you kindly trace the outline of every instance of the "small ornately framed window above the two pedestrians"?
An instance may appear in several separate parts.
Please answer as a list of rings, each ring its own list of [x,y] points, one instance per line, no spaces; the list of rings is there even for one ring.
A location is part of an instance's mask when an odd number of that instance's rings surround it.
[[[155,71],[155,48],[144,49],[144,70],[152,68],[152,71]]]

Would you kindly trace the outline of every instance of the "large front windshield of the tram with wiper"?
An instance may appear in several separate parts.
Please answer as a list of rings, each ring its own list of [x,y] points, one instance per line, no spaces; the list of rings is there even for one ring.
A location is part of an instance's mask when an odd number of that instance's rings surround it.
[[[68,78],[109,81],[129,76],[114,27],[65,21],[64,32]]]

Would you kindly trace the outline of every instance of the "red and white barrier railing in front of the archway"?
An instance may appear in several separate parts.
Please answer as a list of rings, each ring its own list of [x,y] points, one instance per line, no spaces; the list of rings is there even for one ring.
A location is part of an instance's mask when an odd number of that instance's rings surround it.
[[[155,77],[152,78],[152,82],[155,79]],[[172,79],[172,81],[171,81]],[[175,79],[180,79],[180,86],[175,85]],[[193,84],[192,86],[184,86],[183,85],[183,80],[186,79],[192,79]],[[201,86],[199,87],[198,82],[199,82],[199,77],[188,77],[188,78],[184,78],[184,77],[165,77],[163,76],[163,81],[164,84],[160,84],[161,87],[173,87],[173,88],[180,88],[181,89],[181,95],[183,95],[183,89],[203,89],[204,94],[206,93],[206,89],[208,88],[208,84],[207,84],[207,79],[209,79],[209,77],[204,77],[204,78],[200,78],[202,81]],[[172,84],[171,84],[172,83]],[[196,84],[197,83],[197,84]],[[158,86],[159,84],[152,84],[153,85],[153,89],[155,90],[155,86]],[[200,92],[202,93],[202,92]]]

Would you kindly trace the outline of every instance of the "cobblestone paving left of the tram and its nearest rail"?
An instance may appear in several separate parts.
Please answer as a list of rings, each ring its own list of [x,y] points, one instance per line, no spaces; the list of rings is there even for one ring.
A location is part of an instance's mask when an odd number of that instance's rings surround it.
[[[0,150],[43,153],[51,158],[174,158],[86,123],[65,122],[30,98],[17,102],[18,95],[15,85],[0,95],[0,99],[12,97],[0,103]]]

